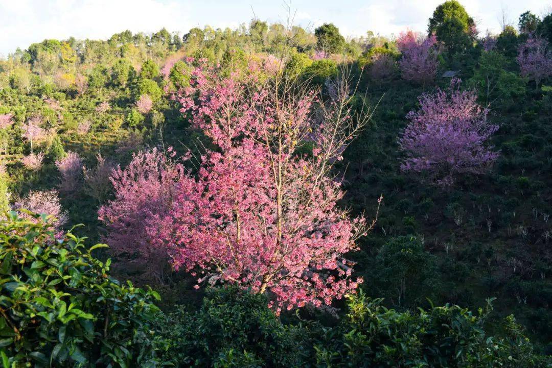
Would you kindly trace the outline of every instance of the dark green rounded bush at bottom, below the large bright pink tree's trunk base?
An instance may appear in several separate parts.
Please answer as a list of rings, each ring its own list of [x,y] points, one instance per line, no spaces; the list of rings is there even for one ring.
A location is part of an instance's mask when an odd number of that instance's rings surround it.
[[[199,311],[169,314],[166,360],[179,367],[298,366],[296,329],[286,327],[267,299],[237,288],[210,289]]]

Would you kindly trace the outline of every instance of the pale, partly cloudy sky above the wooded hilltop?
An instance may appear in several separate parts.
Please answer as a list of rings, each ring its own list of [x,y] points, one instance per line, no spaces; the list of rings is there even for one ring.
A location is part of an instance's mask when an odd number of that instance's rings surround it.
[[[287,1],[287,0],[286,0]],[[371,30],[390,36],[411,28],[423,31],[443,0],[294,0],[295,24],[336,24],[346,36]],[[500,30],[502,13],[516,25],[526,10],[550,12],[552,0],[460,0],[480,33]],[[253,10],[252,10],[253,8]],[[46,38],[107,39],[130,29],[186,33],[194,26],[236,28],[253,18],[269,22],[287,17],[282,0],[0,0],[0,55]]]

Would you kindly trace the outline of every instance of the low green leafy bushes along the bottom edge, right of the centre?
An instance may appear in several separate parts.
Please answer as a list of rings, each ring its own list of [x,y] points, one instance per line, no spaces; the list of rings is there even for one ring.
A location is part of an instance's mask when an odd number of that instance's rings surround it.
[[[326,329],[315,347],[317,367],[546,367],[512,316],[502,337],[485,332],[492,310],[459,306],[397,312],[363,293],[349,296],[346,320]]]

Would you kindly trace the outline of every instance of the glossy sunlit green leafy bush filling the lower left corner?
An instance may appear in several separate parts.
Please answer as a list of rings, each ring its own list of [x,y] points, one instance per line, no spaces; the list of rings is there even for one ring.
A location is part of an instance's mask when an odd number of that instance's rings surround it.
[[[120,285],[84,238],[45,215],[0,221],[0,358],[4,367],[145,367],[155,363],[155,291]]]

